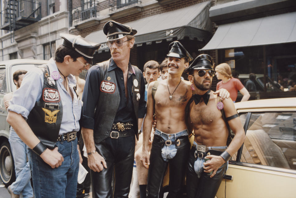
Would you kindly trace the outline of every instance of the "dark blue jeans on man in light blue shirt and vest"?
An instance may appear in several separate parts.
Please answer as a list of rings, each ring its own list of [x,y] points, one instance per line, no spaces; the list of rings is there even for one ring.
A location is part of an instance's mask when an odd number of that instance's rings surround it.
[[[55,144],[64,162],[58,168],[51,168],[31,150],[32,177],[36,198],[76,197],[79,155],[77,138],[71,142],[58,141]]]

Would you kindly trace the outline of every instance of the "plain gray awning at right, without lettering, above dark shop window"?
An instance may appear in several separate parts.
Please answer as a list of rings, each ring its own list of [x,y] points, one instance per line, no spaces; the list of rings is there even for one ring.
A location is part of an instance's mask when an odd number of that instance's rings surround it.
[[[296,12],[220,25],[201,50],[296,42]]]

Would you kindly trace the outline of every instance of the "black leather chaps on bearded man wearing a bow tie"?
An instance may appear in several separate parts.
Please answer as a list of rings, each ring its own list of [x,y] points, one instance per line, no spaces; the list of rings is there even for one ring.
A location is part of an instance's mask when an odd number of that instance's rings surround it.
[[[222,182],[223,175],[226,172],[227,163],[224,163],[218,168],[215,176],[210,178],[208,173],[204,172],[204,168],[200,168],[200,177],[194,170],[194,164],[198,157],[195,157],[195,147],[191,148],[186,172],[186,188],[188,198],[214,198]],[[209,151],[211,155],[219,156],[222,152]],[[205,157],[206,155],[204,155]],[[203,167],[204,157],[200,162],[200,167]]]

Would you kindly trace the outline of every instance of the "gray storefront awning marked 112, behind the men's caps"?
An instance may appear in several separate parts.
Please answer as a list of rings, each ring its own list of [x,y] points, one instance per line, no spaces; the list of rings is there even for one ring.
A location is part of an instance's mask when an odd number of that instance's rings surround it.
[[[209,20],[210,2],[203,2],[185,8],[156,14],[150,17],[125,23],[138,31],[135,35],[135,44],[161,42],[162,39],[178,40],[184,37],[208,42],[211,36],[211,23]],[[86,39],[102,43],[99,51],[109,50],[103,30],[88,34]]]

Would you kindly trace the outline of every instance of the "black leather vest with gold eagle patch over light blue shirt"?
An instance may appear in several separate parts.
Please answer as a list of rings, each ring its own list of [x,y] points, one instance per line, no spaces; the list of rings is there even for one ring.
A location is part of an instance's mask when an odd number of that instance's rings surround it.
[[[42,95],[30,111],[27,123],[40,141],[47,148],[53,149],[60,132],[63,105],[57,82],[50,77],[48,66],[42,65],[39,68],[43,71]]]

